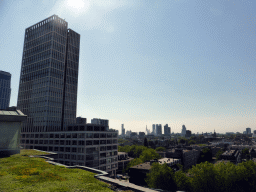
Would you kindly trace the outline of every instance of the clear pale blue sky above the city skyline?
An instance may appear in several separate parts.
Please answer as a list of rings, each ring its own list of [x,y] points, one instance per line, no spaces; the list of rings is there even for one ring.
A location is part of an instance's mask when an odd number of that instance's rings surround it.
[[[120,131],[256,130],[256,1],[0,0],[0,70],[17,105],[25,28],[56,14],[81,35],[77,116]]]

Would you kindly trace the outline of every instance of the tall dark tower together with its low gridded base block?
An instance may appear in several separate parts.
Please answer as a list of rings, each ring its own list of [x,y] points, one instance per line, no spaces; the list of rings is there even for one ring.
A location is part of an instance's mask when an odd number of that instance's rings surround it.
[[[25,30],[17,108],[28,118],[20,145],[115,176],[117,131],[108,120],[76,118],[79,47],[80,35],[56,15]]]

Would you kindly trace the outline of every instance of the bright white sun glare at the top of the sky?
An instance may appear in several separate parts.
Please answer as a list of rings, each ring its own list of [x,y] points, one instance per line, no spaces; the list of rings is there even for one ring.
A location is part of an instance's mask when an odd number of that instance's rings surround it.
[[[67,7],[74,13],[84,12],[90,7],[88,0],[67,0]]]

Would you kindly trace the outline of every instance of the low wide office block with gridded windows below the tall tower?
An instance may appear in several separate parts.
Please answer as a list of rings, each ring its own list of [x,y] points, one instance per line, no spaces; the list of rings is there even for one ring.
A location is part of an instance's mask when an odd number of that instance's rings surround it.
[[[88,166],[116,175],[117,131],[105,126],[72,125],[65,131],[22,133],[20,145],[24,149],[53,151],[61,164]]]

